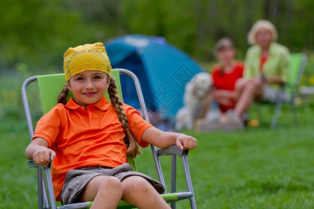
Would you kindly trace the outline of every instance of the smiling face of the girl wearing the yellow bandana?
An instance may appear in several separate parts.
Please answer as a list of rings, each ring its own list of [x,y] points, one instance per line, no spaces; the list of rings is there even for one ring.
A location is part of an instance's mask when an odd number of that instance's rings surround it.
[[[80,72],[68,81],[68,88],[81,107],[95,104],[105,94],[106,88],[110,84],[110,77],[105,72],[97,70],[87,70]]]

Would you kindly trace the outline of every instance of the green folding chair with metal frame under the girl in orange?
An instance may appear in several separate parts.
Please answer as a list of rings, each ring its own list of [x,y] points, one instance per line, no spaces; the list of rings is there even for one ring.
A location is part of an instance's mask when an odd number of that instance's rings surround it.
[[[137,77],[130,72],[129,70],[124,69],[114,69],[112,70],[112,77],[116,80],[116,85],[119,91],[120,98],[122,98],[121,86],[119,75],[123,73],[125,75],[130,76],[135,83],[135,88],[137,90],[137,96],[140,101],[140,106],[142,109],[143,118],[146,121],[149,121],[149,117],[147,114],[147,109],[145,107],[144,98],[142,95],[142,90],[140,87],[140,83]],[[66,84],[64,79],[64,74],[54,74],[54,75],[39,75],[36,77],[30,77],[27,79],[22,85],[22,100],[24,103],[25,114],[27,118],[27,124],[29,126],[29,135],[31,139],[33,138],[33,119],[31,117],[31,111],[29,108],[29,101],[27,98],[27,86],[32,82],[38,83],[40,100],[43,108],[43,114],[47,113],[57,104],[57,96],[59,92],[63,88],[64,84]],[[106,98],[108,101],[109,95],[106,93]],[[68,97],[73,97],[73,95],[68,95]],[[165,194],[161,194],[163,199],[167,201],[167,203],[171,203],[172,208],[176,208],[176,201],[183,199],[190,199],[190,208],[196,208],[195,196],[193,192],[193,185],[190,178],[190,170],[188,167],[188,150],[180,150],[177,146],[170,146],[164,149],[157,149],[156,146],[151,145],[152,154],[154,157],[156,171],[158,174],[158,178],[160,183],[166,188],[165,179],[163,177],[163,171],[160,166],[159,157],[163,155],[172,155],[172,167],[171,167],[171,192],[168,193],[166,191]],[[176,190],[176,176],[177,176],[177,156],[181,157],[184,173],[186,176],[186,192],[177,192]],[[133,167],[134,171],[137,171],[135,160],[131,160],[128,158],[129,164]],[[52,180],[50,176],[50,166],[47,168],[38,166],[33,162],[33,160],[29,160],[28,162],[30,168],[37,169],[37,182],[38,182],[38,208],[90,208],[92,202],[84,202],[84,203],[75,203],[70,205],[64,205],[57,207],[57,203],[55,201]],[[131,206],[126,201],[121,200],[119,202],[118,208],[135,208],[135,206]]]

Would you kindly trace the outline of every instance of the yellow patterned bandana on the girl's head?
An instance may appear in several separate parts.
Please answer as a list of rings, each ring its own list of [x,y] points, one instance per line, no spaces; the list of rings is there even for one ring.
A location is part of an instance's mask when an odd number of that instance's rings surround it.
[[[111,69],[107,52],[101,42],[71,47],[64,53],[63,70],[66,82],[73,75],[86,70],[98,70],[110,76]]]

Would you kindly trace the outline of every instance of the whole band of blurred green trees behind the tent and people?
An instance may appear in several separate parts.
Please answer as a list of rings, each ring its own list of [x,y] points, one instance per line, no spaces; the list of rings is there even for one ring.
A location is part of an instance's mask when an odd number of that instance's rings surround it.
[[[68,47],[127,33],[164,36],[198,61],[212,61],[215,42],[228,36],[244,59],[247,33],[260,19],[275,24],[292,52],[313,50],[313,7],[313,0],[0,1],[0,66],[61,71]]]

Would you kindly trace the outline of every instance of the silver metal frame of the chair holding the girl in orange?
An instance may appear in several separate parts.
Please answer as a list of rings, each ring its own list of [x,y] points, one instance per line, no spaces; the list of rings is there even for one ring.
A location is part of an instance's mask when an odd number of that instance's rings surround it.
[[[119,74],[125,74],[128,75],[133,79],[133,82],[135,84],[135,88],[137,91],[137,97],[140,101],[140,107],[142,109],[142,114],[144,120],[149,122],[149,116],[147,114],[147,109],[144,103],[144,97],[142,95],[142,90],[140,86],[140,82],[135,76],[133,72],[130,72],[130,70],[126,69],[117,69],[119,70]],[[27,124],[29,126],[29,135],[31,139],[33,138],[34,130],[33,130],[33,120],[31,118],[31,111],[29,108],[29,101],[27,98],[27,86],[31,84],[32,82],[36,82],[36,77],[30,77],[29,79],[25,80],[25,82],[22,84],[22,100],[24,104],[24,110],[27,118]],[[168,203],[171,203],[172,208],[176,208],[176,202],[181,199],[189,199],[190,200],[190,208],[197,208],[196,202],[195,202],[195,195],[193,192],[193,185],[192,180],[190,178],[190,169],[188,166],[188,150],[180,150],[177,146],[170,146],[168,148],[164,149],[157,149],[156,146],[151,145],[151,151],[154,157],[154,162],[156,165],[156,170],[158,174],[158,178],[160,183],[166,188],[165,185],[165,179],[163,177],[163,171],[161,169],[160,160],[159,157],[163,155],[172,155],[172,164],[171,164],[171,193],[167,193],[167,189],[165,194],[161,194],[163,199],[167,201]],[[186,185],[187,185],[187,192],[177,192],[177,156],[181,157],[183,167],[184,167],[184,173],[186,177]],[[65,206],[57,207],[55,198],[54,198],[54,192],[52,187],[52,180],[50,175],[50,166],[48,167],[41,167],[35,164],[32,160],[29,161],[29,167],[37,168],[37,183],[38,183],[38,208],[52,208],[52,209],[63,209],[63,208],[89,208],[91,206],[92,202],[85,202],[85,203],[75,203]],[[134,206],[130,206],[125,201],[121,200],[119,203],[119,208],[134,208]]]

